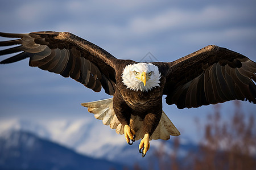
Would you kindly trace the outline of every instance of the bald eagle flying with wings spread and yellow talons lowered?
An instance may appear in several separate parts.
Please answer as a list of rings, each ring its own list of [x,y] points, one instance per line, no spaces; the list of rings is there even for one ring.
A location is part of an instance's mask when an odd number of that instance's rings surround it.
[[[82,103],[104,125],[125,134],[130,145],[141,139],[144,157],[151,139],[180,135],[162,111],[162,97],[177,108],[248,100],[256,103],[256,63],[215,45],[173,62],[140,63],[117,59],[89,41],[68,32],[0,33],[0,55],[16,53],[1,63],[30,58],[29,65],[71,77],[95,92],[104,88],[113,98]]]

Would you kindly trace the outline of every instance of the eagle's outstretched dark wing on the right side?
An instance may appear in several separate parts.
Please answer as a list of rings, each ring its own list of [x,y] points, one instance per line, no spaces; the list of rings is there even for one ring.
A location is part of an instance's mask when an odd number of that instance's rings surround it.
[[[234,99],[256,103],[256,63],[242,54],[209,45],[168,65],[167,104],[181,109]]]

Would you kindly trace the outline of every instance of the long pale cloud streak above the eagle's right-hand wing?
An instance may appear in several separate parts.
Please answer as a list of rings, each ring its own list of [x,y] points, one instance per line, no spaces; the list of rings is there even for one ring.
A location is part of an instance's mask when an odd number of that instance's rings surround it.
[[[240,12],[237,12],[240,11]],[[138,35],[182,29],[205,29],[225,27],[236,20],[245,19],[251,14],[239,6],[205,6],[188,10],[186,8],[168,8],[158,14],[147,17],[138,16],[131,20],[129,28]]]

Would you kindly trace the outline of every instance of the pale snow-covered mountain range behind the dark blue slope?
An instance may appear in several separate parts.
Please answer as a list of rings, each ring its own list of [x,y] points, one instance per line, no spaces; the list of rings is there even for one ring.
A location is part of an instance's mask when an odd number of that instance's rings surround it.
[[[118,135],[108,126],[102,125],[102,122],[95,121],[94,117],[71,120],[57,118],[33,122],[11,118],[0,120],[0,137],[5,134],[5,131],[10,130],[27,131],[91,158],[106,159],[127,165],[130,165],[131,162],[148,162],[148,159],[154,155],[154,151],[158,150],[164,142],[162,140],[151,141],[150,151],[148,151],[146,159],[142,159],[141,154],[138,153],[139,141],[132,146],[127,145],[123,135]],[[180,154],[187,152],[185,147],[190,143],[188,139],[181,138],[184,151],[181,150]],[[172,153],[172,139],[164,142],[164,147],[166,147],[164,152]]]

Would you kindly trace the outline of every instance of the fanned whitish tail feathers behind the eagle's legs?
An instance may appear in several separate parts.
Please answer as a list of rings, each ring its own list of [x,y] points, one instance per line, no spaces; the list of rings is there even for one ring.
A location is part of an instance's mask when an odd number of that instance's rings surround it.
[[[115,129],[117,134],[123,134],[124,126],[118,121],[117,116],[113,109],[113,98],[92,101],[89,103],[82,103],[84,107],[88,108],[88,112],[93,113],[94,117],[98,120],[102,120],[104,125],[110,126],[111,129]],[[136,140],[144,137],[141,131],[142,120],[138,116],[131,116],[130,127],[136,132]],[[151,139],[170,139],[170,135],[180,135],[179,130],[176,129],[171,120],[167,117],[166,113],[162,112],[160,122],[151,135]]]

